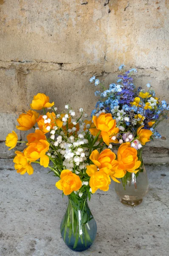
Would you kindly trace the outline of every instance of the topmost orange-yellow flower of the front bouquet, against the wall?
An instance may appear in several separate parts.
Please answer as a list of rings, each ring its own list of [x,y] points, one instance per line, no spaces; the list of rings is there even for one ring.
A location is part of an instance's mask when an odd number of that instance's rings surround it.
[[[41,110],[42,108],[51,108],[54,102],[49,103],[49,97],[44,93],[38,93],[34,96],[32,103],[30,104],[32,109]]]

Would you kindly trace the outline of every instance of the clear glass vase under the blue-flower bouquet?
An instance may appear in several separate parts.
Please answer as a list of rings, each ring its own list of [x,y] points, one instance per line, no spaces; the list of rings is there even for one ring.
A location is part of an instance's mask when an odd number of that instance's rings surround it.
[[[115,192],[121,198],[121,203],[129,206],[141,204],[148,188],[149,182],[144,163],[136,174],[127,172],[121,178],[121,183],[115,183]]]

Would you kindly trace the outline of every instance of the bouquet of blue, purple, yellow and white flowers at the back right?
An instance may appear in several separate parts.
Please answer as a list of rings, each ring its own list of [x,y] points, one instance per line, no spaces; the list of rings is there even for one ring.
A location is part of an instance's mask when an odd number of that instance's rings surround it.
[[[117,83],[110,84],[107,90],[95,76],[90,79],[95,86],[101,87],[95,92],[95,95],[99,96],[99,101],[96,103],[96,109],[92,111],[92,116],[99,116],[101,111],[104,111],[113,117],[119,131],[111,137],[109,148],[119,148],[119,152],[120,148],[125,148],[121,155],[122,159],[127,156],[127,147],[136,149],[141,164],[136,166],[136,170],[133,172],[138,175],[139,172],[143,172],[143,146],[153,137],[161,138],[156,127],[163,119],[167,118],[169,105],[165,100],[159,101],[150,83],[146,85],[147,91],[141,87],[135,88],[132,82],[132,74],[137,72],[135,68],[126,71],[124,65],[121,65],[119,70]],[[131,177],[129,170],[130,168],[125,169],[127,172],[121,179],[124,189],[127,180],[130,180]]]

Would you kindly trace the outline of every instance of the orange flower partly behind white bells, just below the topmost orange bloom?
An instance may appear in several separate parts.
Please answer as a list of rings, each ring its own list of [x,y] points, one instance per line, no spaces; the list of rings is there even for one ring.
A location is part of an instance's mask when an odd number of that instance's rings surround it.
[[[56,115],[54,112],[48,112],[46,116],[47,119],[51,119],[51,122],[45,123],[46,119],[44,119],[43,116],[39,116],[39,118],[37,119],[37,125],[44,134],[48,133],[51,129],[53,129],[54,126],[57,126],[58,128],[62,127],[63,122],[60,119],[56,119]],[[46,129],[48,126],[50,127],[50,130]]]

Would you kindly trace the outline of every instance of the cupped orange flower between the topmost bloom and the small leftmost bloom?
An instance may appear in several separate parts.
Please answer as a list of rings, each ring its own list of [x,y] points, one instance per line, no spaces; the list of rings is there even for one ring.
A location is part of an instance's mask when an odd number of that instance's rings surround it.
[[[17,129],[22,131],[30,130],[36,124],[38,116],[39,113],[32,110],[29,110],[26,114],[22,113],[17,119],[19,123],[19,125],[16,126]]]

